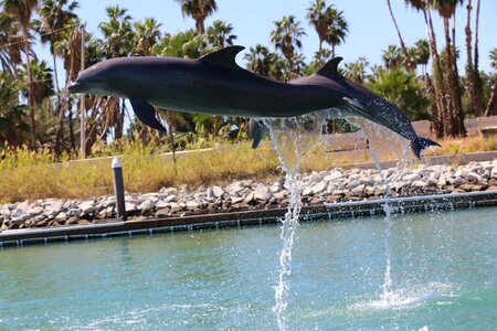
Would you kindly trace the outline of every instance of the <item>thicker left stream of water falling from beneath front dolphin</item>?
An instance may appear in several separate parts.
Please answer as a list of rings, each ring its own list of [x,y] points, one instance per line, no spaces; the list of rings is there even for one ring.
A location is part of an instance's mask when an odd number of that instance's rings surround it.
[[[320,137],[325,118],[317,114],[310,114],[302,117],[261,120],[269,128],[269,137],[285,170],[285,186],[289,192],[288,211],[282,221],[283,248],[279,253],[279,275],[278,284],[274,287],[275,306],[273,307],[279,330],[286,330],[284,312],[287,307],[286,297],[289,289],[287,278],[292,273],[295,229],[298,226],[302,207],[298,184],[299,169],[304,154],[319,141],[316,137]]]

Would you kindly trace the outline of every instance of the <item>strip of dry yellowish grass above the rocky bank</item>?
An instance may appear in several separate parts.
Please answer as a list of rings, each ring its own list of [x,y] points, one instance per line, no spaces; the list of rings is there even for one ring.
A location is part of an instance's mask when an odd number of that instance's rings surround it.
[[[369,136],[369,135],[368,135]],[[403,158],[409,145],[398,138],[374,139],[371,146],[380,160]],[[440,141],[442,148],[431,149],[425,156],[451,156],[475,151],[497,150],[497,137],[470,137]],[[157,154],[160,147],[139,143],[99,148],[98,156],[119,154],[123,162],[125,186],[129,192],[152,192],[162,186],[189,188],[226,183],[232,180],[274,180],[279,175],[279,162],[269,141],[253,150],[248,142],[221,143],[214,150],[178,157],[177,166],[170,157]],[[27,148],[6,147],[0,161],[0,203],[44,197],[82,199],[113,193],[112,159],[70,161],[75,154],[62,156],[54,163],[47,151],[32,152]],[[412,158],[412,157],[411,157]],[[371,161],[367,150],[327,152],[326,146],[310,149],[304,159],[304,171],[321,171]]]

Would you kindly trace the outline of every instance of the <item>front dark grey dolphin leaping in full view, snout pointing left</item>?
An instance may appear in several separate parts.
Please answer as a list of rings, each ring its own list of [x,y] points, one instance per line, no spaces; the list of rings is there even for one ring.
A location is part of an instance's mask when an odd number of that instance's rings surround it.
[[[243,46],[198,60],[137,56],[110,58],[81,72],[68,90],[128,98],[137,117],[165,131],[154,106],[236,117],[294,117],[348,104],[351,96],[317,84],[286,84],[240,67]]]

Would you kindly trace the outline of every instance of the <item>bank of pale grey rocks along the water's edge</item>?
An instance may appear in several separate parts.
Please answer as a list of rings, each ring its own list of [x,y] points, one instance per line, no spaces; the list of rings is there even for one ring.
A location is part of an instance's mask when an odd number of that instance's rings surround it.
[[[388,184],[385,184],[388,183]],[[304,204],[347,202],[390,196],[497,191],[497,160],[466,166],[420,166],[377,170],[332,169],[304,173],[300,178]],[[163,188],[157,193],[126,193],[130,218],[168,217],[230,212],[288,203],[284,180],[274,183],[235,181],[224,186]],[[62,225],[93,224],[116,217],[114,196],[88,200],[44,199],[0,205],[0,231]]]

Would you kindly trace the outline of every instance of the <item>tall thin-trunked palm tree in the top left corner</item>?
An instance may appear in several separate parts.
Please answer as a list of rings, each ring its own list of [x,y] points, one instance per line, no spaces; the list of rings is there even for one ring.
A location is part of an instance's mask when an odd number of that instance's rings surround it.
[[[15,18],[15,21],[21,26],[22,39],[24,43],[25,66],[28,68],[28,107],[30,108],[30,124],[31,124],[31,147],[36,146],[36,120],[33,108],[33,97],[31,93],[31,49],[29,43],[29,29],[31,24],[31,14],[38,7],[38,0],[3,0],[1,2],[3,10]]]

